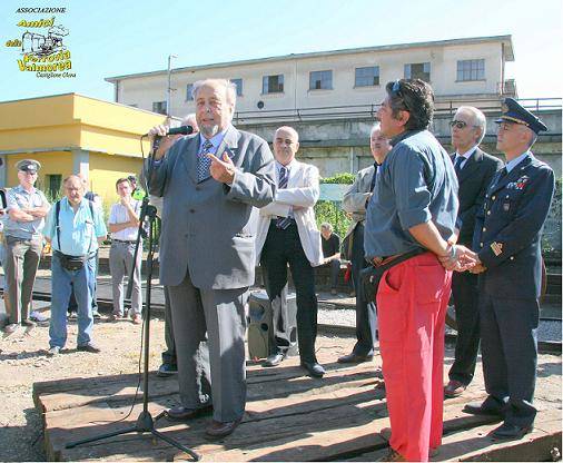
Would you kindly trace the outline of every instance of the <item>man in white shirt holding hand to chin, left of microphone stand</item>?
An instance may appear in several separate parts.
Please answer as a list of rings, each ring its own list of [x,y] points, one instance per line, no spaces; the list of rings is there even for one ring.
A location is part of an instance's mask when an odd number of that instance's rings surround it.
[[[136,325],[141,323],[141,283],[140,267],[142,247],[139,247],[137,260],[134,262],[135,243],[139,230],[141,201],[131,197],[132,185],[127,178],[116,181],[119,203],[111,206],[109,213],[109,232],[111,248],[109,250],[109,270],[113,289],[113,312],[109,319],[115,322],[124,316],[124,277],[132,274],[131,319]]]

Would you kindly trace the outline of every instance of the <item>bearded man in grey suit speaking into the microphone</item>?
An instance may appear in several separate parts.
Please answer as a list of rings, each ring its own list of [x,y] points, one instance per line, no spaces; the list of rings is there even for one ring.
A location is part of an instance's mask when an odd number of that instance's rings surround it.
[[[169,150],[164,144],[148,159],[146,178],[150,194],[164,197],[160,283],[169,290],[178,356],[181,406],[167,414],[186,421],[213,407],[206,433],[223,437],[245,412],[245,305],[255,276],[250,218],[253,206],[273,200],[275,165],[265,140],[231,126],[231,82],[198,81],[194,99],[199,136]],[[166,128],[150,135],[165,136]]]

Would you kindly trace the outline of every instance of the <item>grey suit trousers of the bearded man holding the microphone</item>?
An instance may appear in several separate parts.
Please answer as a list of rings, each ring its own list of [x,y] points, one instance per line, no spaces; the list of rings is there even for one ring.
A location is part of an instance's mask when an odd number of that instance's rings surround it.
[[[179,285],[168,286],[168,293],[182,406],[213,403],[214,420],[240,418],[246,405],[248,288],[200,289],[187,272]]]

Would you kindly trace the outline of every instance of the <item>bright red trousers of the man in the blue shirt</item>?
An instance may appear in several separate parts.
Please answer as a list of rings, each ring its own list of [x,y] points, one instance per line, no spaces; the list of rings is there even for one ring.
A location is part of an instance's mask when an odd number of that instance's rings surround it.
[[[425,253],[387,270],[377,290],[379,351],[392,428],[408,461],[442,443],[444,325],[452,273]]]

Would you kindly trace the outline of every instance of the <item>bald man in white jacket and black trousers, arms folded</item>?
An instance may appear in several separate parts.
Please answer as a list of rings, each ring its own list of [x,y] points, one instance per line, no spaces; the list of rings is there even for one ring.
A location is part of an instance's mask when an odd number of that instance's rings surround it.
[[[310,376],[322,377],[325,370],[315,355],[317,336],[317,296],[313,267],[320,265],[320,233],[313,206],[318,199],[318,169],[299,162],[295,155],[299,136],[292,127],[280,127],[274,136],[277,189],[273,203],[260,209],[256,255],[260,263],[274,311],[275,352],[264,366],[276,366],[295,344],[288,327],[284,288],[287,265],[297,294],[297,337],[302,366]]]

